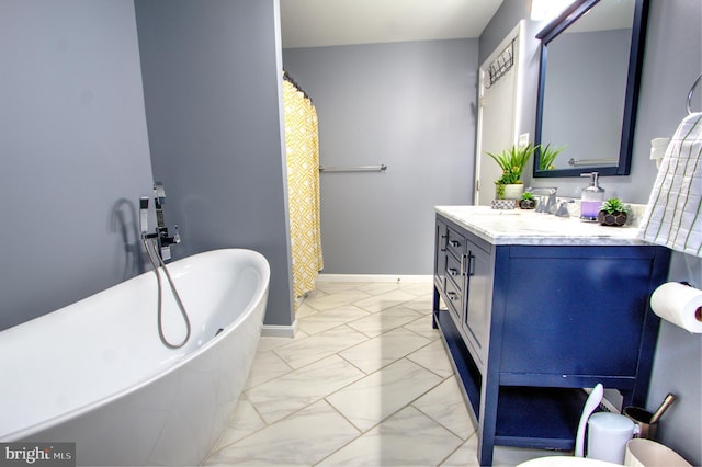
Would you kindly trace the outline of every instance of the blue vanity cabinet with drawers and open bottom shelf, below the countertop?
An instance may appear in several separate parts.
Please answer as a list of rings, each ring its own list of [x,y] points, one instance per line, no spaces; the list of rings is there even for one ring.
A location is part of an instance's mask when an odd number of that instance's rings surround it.
[[[597,383],[625,406],[646,401],[659,324],[648,299],[670,251],[547,243],[494,244],[437,217],[433,322],[469,402],[480,465],[496,444],[573,449],[582,388]]]

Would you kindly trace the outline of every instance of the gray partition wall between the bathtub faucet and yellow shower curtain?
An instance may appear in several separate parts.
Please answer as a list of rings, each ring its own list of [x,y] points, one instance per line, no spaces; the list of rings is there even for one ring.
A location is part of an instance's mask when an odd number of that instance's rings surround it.
[[[154,176],[177,257],[251,248],[271,264],[265,323],[290,326],[275,0],[136,0]]]

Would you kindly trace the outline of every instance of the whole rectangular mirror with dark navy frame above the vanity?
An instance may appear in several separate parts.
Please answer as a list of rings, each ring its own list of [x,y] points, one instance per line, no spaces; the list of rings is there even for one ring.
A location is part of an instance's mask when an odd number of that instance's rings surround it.
[[[648,0],[576,0],[544,27],[534,176],[627,175]],[[547,155],[546,155],[547,156]]]

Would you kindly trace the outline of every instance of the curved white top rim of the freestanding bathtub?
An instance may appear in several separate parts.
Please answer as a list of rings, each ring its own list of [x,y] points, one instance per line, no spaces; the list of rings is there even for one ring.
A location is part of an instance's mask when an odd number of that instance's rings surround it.
[[[236,329],[237,329],[237,324],[245,321],[247,318],[249,318],[251,316],[251,314],[253,314],[259,306],[267,306],[267,301],[268,301],[268,293],[269,293],[269,288],[270,288],[270,275],[271,275],[271,270],[270,270],[270,263],[268,262],[268,260],[265,259],[265,257],[263,257],[263,254],[261,254],[260,252],[256,251],[256,250],[251,250],[251,249],[246,249],[246,248],[222,248],[222,249],[215,249],[215,250],[207,250],[207,251],[203,251],[200,253],[195,253],[182,259],[179,259],[177,261],[173,261],[172,263],[169,263],[168,266],[171,266],[171,264],[178,263],[178,262],[183,262],[183,264],[181,264],[180,266],[185,266],[188,262],[193,261],[195,259],[197,259],[199,257],[206,257],[206,255],[214,255],[217,252],[240,252],[240,253],[245,253],[245,254],[249,254],[251,258],[254,259],[256,261],[256,266],[262,265],[262,281],[261,284],[263,284],[260,287],[257,287],[256,293],[252,295],[252,298],[249,300],[249,306],[237,317],[237,319],[235,319],[229,326],[227,326],[224,331],[222,331],[219,334],[216,334],[215,337],[213,337],[212,339],[210,339],[207,342],[205,342],[204,344],[202,344],[199,348],[195,348],[193,351],[185,353],[181,356],[179,356],[176,360],[172,360],[170,362],[170,364],[167,367],[163,367],[161,371],[156,372],[154,375],[127,387],[124,388],[122,390],[116,390],[110,395],[106,395],[98,400],[91,401],[89,403],[86,403],[83,406],[77,407],[68,412],[61,413],[59,415],[53,417],[50,419],[44,420],[39,423],[34,423],[30,426],[25,426],[23,429],[13,431],[13,432],[9,432],[9,433],[0,433],[0,443],[7,443],[7,442],[16,442],[16,441],[22,441],[25,438],[30,438],[32,434],[35,433],[39,433],[42,431],[45,430],[49,430],[53,429],[56,425],[59,425],[61,423],[68,422],[75,418],[81,417],[86,413],[89,413],[93,410],[97,410],[101,407],[104,407],[111,402],[114,402],[115,400],[122,398],[122,397],[126,397],[128,395],[132,395],[136,391],[139,391],[141,389],[144,389],[145,387],[149,386],[150,384],[157,381],[158,379],[166,377],[168,375],[170,375],[171,373],[180,369],[181,367],[185,366],[186,364],[189,364],[191,361],[193,361],[194,358],[196,358],[197,356],[200,356],[201,354],[205,353],[207,350],[210,350],[211,348],[213,348],[214,345],[216,345],[219,341],[224,340],[227,335],[229,335],[230,333],[233,333]],[[252,254],[251,254],[252,253]],[[61,311],[65,308],[69,308],[75,304],[78,304],[82,300],[87,300],[90,299],[92,297],[94,297],[95,295],[99,294],[103,294],[107,291],[110,291],[113,287],[120,286],[124,283],[127,283],[132,280],[135,280],[141,275],[145,274],[154,274],[152,271],[146,271],[145,273],[141,273],[135,277],[131,277],[126,281],[123,281],[118,284],[115,284],[111,287],[107,287],[103,291],[100,291],[95,294],[92,294],[88,297],[84,297],[78,301],[75,301],[73,304],[69,304],[65,307],[58,308],[54,311],[50,311],[46,315],[39,316],[37,318],[34,318],[30,321],[25,321],[23,323],[18,324],[16,327],[20,327],[24,323],[30,323],[32,321],[36,321],[36,320],[41,320],[43,317],[47,316],[47,315],[52,315],[56,311]],[[265,315],[265,309],[262,310],[263,316]],[[261,322],[262,324],[262,322]],[[12,327],[12,328],[8,328],[8,330],[16,328],[16,327]]]

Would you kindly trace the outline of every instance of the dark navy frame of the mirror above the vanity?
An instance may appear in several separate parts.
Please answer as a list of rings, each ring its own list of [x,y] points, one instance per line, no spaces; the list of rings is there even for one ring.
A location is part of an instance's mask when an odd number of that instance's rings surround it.
[[[544,106],[544,87],[546,83],[546,62],[548,44],[558,37],[570,24],[596,7],[600,0],[577,0],[566,9],[557,19],[541,30],[536,38],[541,39],[541,62],[539,67],[539,96],[536,102],[536,130],[534,145],[540,145],[542,130],[542,113]],[[597,171],[600,175],[629,175],[632,163],[632,150],[634,144],[634,128],[636,124],[636,110],[638,106],[638,88],[641,83],[642,67],[644,61],[644,42],[646,38],[646,24],[648,22],[648,0],[634,0],[634,21],[632,24],[632,41],[629,55],[629,71],[626,78],[626,95],[624,99],[624,115],[622,121],[622,134],[620,138],[619,163],[616,166],[587,166],[574,169],[540,170],[540,151],[534,153],[534,178],[580,176],[580,173]]]

